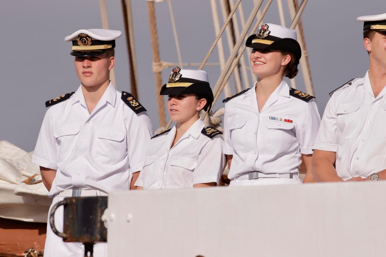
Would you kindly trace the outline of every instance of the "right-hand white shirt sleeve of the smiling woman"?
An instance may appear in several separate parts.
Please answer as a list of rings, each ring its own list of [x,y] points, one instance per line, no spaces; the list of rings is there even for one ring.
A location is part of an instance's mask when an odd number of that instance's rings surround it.
[[[300,123],[296,129],[296,138],[300,145],[301,154],[312,154],[320,125],[320,115],[315,101],[310,102],[300,116]]]

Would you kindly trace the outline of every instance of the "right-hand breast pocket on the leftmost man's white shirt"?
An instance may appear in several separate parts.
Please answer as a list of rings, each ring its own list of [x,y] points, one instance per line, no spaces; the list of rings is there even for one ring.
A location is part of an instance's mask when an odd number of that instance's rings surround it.
[[[114,164],[123,156],[125,131],[112,128],[98,128],[91,145],[91,156],[97,162]]]

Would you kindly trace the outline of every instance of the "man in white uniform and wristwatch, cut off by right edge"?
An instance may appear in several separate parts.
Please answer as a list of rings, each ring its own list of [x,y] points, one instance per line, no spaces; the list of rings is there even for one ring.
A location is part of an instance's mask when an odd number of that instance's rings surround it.
[[[317,181],[386,179],[386,14],[357,20],[370,66],[364,78],[330,93],[313,146]]]

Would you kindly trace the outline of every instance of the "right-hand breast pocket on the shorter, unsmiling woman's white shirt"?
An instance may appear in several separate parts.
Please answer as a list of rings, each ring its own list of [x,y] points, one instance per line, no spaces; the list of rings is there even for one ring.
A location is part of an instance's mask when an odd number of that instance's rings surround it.
[[[172,157],[169,162],[166,184],[171,186],[186,186],[193,178],[197,160],[190,157]]]

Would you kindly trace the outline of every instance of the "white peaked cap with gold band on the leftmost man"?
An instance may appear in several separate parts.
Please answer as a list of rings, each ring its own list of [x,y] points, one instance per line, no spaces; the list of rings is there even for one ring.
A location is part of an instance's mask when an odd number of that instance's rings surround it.
[[[80,29],[65,37],[64,41],[73,42],[70,53],[73,56],[95,56],[114,48],[115,39],[121,35],[119,30]]]

